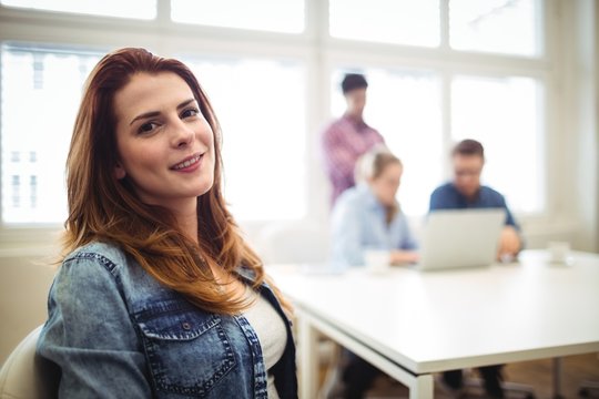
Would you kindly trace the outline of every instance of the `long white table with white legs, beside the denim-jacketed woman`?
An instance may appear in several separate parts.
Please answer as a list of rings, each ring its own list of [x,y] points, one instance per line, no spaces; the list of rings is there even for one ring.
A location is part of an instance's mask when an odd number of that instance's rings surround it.
[[[382,275],[268,265],[296,306],[302,398],[316,398],[317,331],[406,385],[413,399],[433,398],[435,372],[599,351],[599,255],[547,259],[527,250],[514,264]]]

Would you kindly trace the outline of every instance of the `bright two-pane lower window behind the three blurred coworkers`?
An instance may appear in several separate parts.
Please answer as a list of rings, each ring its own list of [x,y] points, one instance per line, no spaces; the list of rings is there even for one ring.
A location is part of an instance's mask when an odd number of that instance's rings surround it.
[[[334,115],[345,110],[338,82],[346,72],[351,71],[337,71],[332,80]],[[368,80],[364,119],[383,134],[389,150],[404,163],[398,200],[406,214],[427,213],[430,193],[450,177],[450,172],[444,171],[450,152],[444,142],[453,145],[463,139],[483,143],[487,157],[483,181],[501,192],[512,211],[545,209],[539,81],[518,76],[454,78],[450,137],[444,140],[439,74],[374,68],[358,72]]]

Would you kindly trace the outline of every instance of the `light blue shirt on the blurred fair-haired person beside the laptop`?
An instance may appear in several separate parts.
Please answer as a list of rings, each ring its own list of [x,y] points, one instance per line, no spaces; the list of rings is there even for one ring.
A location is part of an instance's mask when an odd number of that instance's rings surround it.
[[[364,265],[364,252],[372,249],[415,249],[416,242],[405,215],[399,211],[386,222],[385,206],[366,184],[345,191],[332,215],[333,263]]]

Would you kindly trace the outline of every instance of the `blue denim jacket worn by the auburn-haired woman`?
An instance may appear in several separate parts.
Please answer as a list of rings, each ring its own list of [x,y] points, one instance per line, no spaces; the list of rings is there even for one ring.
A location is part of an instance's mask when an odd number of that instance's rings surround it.
[[[254,277],[238,273],[247,283]],[[297,398],[291,325],[266,284],[260,293],[287,321],[272,370],[277,392]],[[60,397],[267,397],[262,349],[245,317],[191,305],[116,246],[92,243],[69,255],[48,309],[38,354],[60,370]]]

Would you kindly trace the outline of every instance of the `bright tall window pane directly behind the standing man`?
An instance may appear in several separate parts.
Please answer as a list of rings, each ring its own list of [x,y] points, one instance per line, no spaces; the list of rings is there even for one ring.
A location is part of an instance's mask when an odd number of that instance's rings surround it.
[[[345,111],[338,82],[349,71],[333,76],[333,114]],[[440,80],[428,71],[367,69],[368,98],[364,120],[385,137],[404,164],[398,200],[408,215],[428,212],[429,196],[441,178]]]

